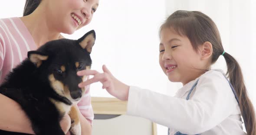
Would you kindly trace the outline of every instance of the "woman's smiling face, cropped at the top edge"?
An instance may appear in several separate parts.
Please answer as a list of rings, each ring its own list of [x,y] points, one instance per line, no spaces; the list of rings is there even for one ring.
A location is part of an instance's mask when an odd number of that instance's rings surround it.
[[[99,0],[43,0],[46,19],[53,29],[72,34],[89,24],[98,8]]]

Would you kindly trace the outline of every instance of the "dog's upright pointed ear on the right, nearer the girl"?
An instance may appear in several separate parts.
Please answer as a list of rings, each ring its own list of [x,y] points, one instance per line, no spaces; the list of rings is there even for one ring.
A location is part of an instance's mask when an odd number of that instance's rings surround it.
[[[94,45],[96,39],[95,31],[91,30],[87,32],[82,38],[78,39],[79,45],[86,49],[89,53],[92,52],[92,46]]]

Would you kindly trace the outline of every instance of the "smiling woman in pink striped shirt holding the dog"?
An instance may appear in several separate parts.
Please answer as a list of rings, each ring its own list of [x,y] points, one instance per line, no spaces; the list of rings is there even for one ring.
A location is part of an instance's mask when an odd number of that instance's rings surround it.
[[[0,84],[8,72],[44,43],[64,38],[89,24],[98,7],[98,0],[26,0],[23,17],[0,19]],[[89,87],[87,87],[89,88]],[[33,134],[29,119],[13,100],[0,94],[0,129]],[[93,111],[91,96],[75,105],[80,109],[82,135],[90,135]],[[61,127],[70,128],[70,118],[64,116]]]

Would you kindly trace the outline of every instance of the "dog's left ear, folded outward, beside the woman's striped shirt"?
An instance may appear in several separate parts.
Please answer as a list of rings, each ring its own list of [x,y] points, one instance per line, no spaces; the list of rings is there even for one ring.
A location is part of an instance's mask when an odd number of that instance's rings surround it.
[[[41,51],[29,51],[28,58],[32,63],[36,65],[36,67],[40,67],[42,61],[47,60],[48,56]]]

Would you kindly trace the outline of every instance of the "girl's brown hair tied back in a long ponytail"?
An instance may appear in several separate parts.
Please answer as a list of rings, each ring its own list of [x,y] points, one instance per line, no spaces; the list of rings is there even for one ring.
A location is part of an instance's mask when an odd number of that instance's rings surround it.
[[[210,42],[213,47],[211,64],[215,63],[224,51],[216,24],[209,16],[199,11],[178,10],[162,24],[159,34],[165,28],[172,28],[177,34],[187,36],[195,51],[197,51],[199,45]],[[248,135],[256,135],[255,112],[247,95],[240,65],[230,54],[224,53],[223,56],[227,65],[226,75],[238,96],[246,132]]]

